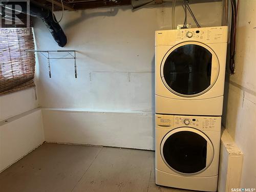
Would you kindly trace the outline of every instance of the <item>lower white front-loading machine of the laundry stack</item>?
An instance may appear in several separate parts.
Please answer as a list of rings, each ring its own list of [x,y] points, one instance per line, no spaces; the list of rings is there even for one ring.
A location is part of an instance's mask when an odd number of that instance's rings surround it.
[[[156,184],[216,191],[221,117],[156,114]]]

